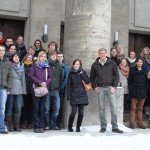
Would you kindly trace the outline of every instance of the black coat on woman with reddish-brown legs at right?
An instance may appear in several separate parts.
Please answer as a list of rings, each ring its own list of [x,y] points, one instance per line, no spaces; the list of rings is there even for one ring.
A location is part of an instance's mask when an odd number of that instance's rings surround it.
[[[147,73],[144,70],[138,70],[137,67],[131,68],[128,78],[130,97],[138,100],[146,99],[147,82]]]

